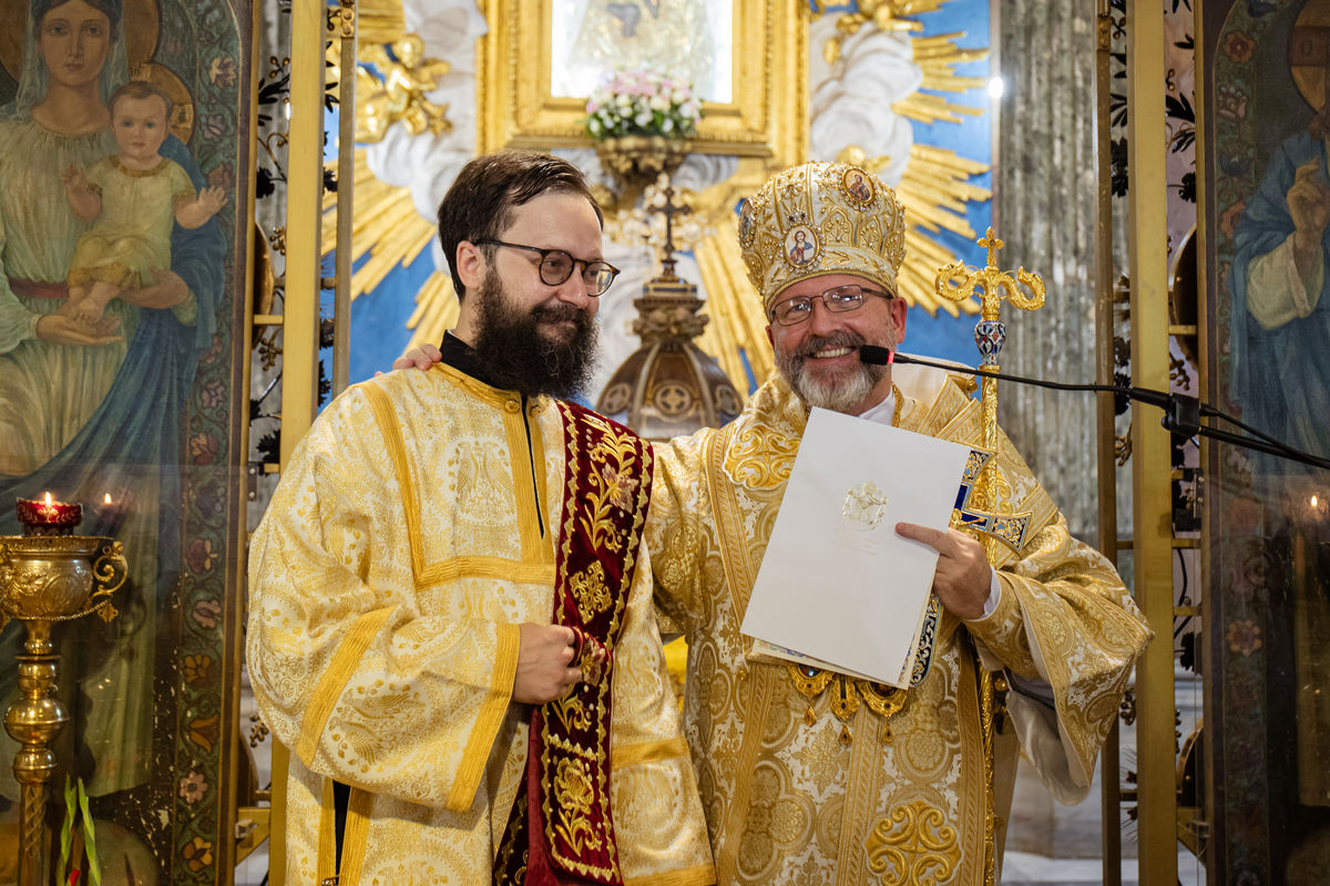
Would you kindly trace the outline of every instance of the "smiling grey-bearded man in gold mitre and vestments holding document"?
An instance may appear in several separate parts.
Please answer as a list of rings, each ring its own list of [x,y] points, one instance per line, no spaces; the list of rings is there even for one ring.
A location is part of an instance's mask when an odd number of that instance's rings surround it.
[[[1017,745],[1055,798],[1083,800],[1149,628],[1001,436],[999,506],[1031,514],[1019,553],[990,565],[964,533],[896,526],[938,551],[908,689],[755,655],[739,626],[810,406],[967,445],[983,429],[968,376],[916,385],[920,400],[859,359],[906,333],[904,210],[887,185],[843,163],[795,166],[743,202],[738,228],[778,375],[725,428],[654,448],[646,522],[656,602],[688,639],[685,733],[717,882],[980,886],[988,837],[1000,854]],[[419,349],[394,365],[435,359]],[[996,821],[980,668],[1011,685]]]

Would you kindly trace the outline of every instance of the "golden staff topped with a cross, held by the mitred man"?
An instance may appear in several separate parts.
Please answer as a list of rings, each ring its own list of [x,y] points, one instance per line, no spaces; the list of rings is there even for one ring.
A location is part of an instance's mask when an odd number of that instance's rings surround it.
[[[963,302],[982,290],[980,306],[983,308],[979,323],[975,324],[975,344],[979,345],[979,372],[980,388],[979,402],[983,414],[983,445],[991,453],[979,480],[975,484],[972,502],[976,510],[998,514],[996,501],[996,462],[998,462],[998,379],[994,375],[999,371],[998,356],[1001,345],[1007,340],[1007,327],[999,319],[1003,298],[1023,311],[1033,311],[1044,304],[1044,282],[1037,274],[1017,268],[1012,275],[1009,271],[998,270],[998,250],[1005,243],[994,236],[990,227],[979,246],[988,250],[988,264],[982,270],[966,267],[962,262],[954,262],[938,271],[935,291],[944,299]],[[1021,287],[1029,291],[1027,296]],[[1009,505],[1007,505],[1009,513]],[[998,538],[983,534],[982,539],[988,562],[998,557]],[[979,719],[984,732],[984,776],[988,785],[987,794],[987,828],[984,834],[984,883],[992,886],[995,879],[995,837],[998,829],[996,813],[994,812],[994,733],[996,731],[995,717],[995,685],[992,672],[979,665]]]

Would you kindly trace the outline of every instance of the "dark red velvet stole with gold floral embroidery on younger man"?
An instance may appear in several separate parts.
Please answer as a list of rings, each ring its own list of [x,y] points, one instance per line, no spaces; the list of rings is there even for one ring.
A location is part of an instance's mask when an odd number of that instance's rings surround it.
[[[609,813],[610,676],[650,497],[652,452],[608,418],[576,404],[559,408],[568,452],[553,623],[577,632],[584,679],[568,697],[531,713],[527,773],[493,882],[618,885]],[[608,652],[600,667],[597,646]]]

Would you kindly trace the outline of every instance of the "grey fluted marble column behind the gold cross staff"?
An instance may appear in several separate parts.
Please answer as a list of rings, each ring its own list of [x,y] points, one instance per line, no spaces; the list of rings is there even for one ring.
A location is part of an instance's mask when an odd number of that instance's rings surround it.
[[[1003,268],[1044,278],[1039,311],[1004,310],[1003,371],[1095,379],[1095,3],[1003,0],[995,227]],[[1092,395],[1004,385],[999,418],[1072,533],[1096,533]]]

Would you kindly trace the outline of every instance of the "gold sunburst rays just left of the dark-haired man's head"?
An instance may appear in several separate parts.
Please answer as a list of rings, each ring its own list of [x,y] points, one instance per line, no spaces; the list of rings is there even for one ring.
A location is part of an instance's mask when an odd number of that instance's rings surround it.
[[[354,221],[351,223],[351,299],[372,292],[388,274],[414,263],[434,242],[435,227],[420,218],[406,187],[388,185],[374,177],[363,149],[355,151]],[[323,195],[322,240],[325,258],[336,246],[336,194]],[[412,331],[408,348],[426,341],[439,341],[444,329],[458,320],[458,299],[452,278],[434,271],[416,292],[416,307],[407,320]]]

